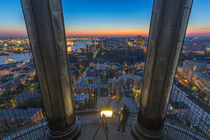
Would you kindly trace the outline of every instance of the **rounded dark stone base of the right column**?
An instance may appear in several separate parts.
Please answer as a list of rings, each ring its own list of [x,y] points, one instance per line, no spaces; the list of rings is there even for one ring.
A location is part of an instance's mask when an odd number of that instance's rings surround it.
[[[159,131],[151,131],[143,128],[136,120],[132,124],[131,133],[137,140],[162,140],[163,129]]]

